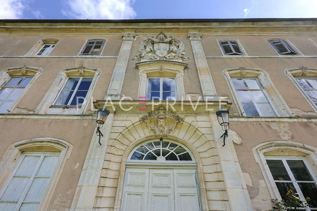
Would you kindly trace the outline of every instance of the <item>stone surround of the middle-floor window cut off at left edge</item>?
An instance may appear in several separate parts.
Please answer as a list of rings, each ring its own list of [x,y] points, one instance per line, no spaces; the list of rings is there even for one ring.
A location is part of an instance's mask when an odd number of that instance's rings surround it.
[[[0,84],[4,84],[8,82],[11,78],[11,76],[33,76],[32,80],[29,82],[29,84],[24,88],[23,92],[16,98],[14,103],[10,106],[8,109],[12,113],[16,105],[20,102],[22,97],[25,95],[25,93],[29,90],[29,88],[32,86],[32,84],[36,81],[36,78],[38,78],[43,73],[42,68],[38,67],[29,67],[29,66],[22,66],[22,67],[11,67],[6,68],[0,72]]]

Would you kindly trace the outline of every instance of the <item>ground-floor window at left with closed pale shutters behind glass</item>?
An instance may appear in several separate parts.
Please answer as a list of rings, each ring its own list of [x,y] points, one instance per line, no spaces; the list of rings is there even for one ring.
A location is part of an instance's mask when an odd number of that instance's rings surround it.
[[[60,152],[23,152],[0,192],[0,209],[36,211]]]

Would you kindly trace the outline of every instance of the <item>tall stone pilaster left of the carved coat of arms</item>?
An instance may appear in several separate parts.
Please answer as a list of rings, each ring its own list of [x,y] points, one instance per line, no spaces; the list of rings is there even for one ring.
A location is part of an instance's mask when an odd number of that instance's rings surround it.
[[[128,64],[132,42],[135,37],[135,33],[123,33],[122,44],[119,52],[119,56],[114,66],[111,81],[105,100],[110,96],[111,100],[120,100],[121,90],[123,85],[124,76],[126,74],[126,66]]]

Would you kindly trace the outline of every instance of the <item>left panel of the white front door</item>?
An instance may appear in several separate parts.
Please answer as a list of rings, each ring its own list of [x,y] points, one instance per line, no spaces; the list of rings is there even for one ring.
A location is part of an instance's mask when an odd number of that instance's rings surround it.
[[[126,168],[121,211],[147,211],[149,171]]]

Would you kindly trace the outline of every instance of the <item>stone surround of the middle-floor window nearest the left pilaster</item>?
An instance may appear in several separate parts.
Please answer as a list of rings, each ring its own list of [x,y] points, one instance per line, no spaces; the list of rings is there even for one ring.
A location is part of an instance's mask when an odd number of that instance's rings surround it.
[[[42,101],[36,108],[36,114],[83,114],[85,113],[87,106],[89,104],[89,99],[91,98],[93,91],[96,87],[98,78],[100,77],[102,71],[99,68],[92,67],[72,67],[66,68],[57,73],[57,77],[55,78],[53,84],[49,88],[49,90],[44,95]],[[60,107],[52,107],[55,98],[58,93],[61,91],[61,88],[66,83],[68,77],[81,77],[81,76],[91,76],[93,80],[90,84],[89,90],[85,97],[85,102],[79,108],[74,108],[73,106],[60,106]],[[65,109],[67,108],[67,109]]]

